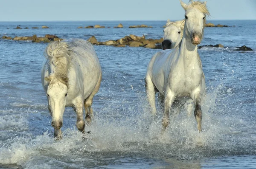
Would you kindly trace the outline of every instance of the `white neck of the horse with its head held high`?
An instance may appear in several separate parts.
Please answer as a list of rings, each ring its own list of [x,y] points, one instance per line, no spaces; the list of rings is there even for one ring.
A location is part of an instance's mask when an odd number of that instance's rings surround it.
[[[184,62],[192,63],[198,60],[197,45],[193,45],[189,33],[184,29],[183,37],[180,44],[180,59]]]

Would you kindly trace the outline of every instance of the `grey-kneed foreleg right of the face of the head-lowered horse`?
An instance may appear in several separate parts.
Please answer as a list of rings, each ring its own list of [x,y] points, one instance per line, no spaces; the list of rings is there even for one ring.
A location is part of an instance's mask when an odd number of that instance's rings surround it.
[[[76,100],[74,110],[76,110],[76,127],[84,133],[83,101],[81,99]]]

